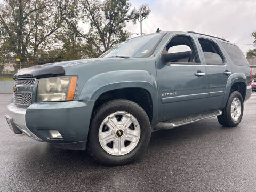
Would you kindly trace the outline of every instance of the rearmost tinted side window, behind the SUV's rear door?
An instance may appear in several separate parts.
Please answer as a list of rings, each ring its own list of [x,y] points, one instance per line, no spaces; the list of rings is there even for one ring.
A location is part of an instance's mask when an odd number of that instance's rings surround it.
[[[238,46],[224,42],[221,42],[221,45],[227,51],[230,59],[233,61],[235,65],[248,66],[247,60],[245,59],[244,54],[238,48]]]

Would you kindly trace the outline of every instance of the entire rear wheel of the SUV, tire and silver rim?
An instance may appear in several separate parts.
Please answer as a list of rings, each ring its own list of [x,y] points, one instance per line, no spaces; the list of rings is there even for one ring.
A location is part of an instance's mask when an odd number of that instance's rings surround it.
[[[226,107],[222,110],[222,115],[217,118],[221,125],[235,127],[241,122],[243,111],[243,97],[240,92],[234,91],[229,95]]]

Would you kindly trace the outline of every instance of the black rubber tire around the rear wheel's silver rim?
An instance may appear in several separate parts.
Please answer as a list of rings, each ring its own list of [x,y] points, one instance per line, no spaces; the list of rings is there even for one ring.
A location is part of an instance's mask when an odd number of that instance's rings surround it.
[[[237,121],[234,121],[234,119],[231,117],[231,104],[234,98],[238,98],[241,102],[241,114]],[[226,107],[222,110],[222,115],[218,116],[218,121],[221,125],[226,127],[235,127],[237,126],[243,117],[243,111],[244,111],[244,100],[240,92],[233,91],[228,98]]]

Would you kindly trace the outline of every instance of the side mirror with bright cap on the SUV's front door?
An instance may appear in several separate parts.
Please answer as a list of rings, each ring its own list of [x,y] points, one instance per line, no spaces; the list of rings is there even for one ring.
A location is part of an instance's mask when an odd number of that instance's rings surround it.
[[[167,62],[177,62],[177,60],[187,59],[192,56],[192,51],[189,46],[177,45],[170,47],[167,53],[162,54],[162,59]]]

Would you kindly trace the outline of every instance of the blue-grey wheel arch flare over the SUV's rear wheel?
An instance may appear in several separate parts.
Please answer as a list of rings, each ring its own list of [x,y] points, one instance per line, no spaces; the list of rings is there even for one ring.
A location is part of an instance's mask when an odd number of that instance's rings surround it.
[[[225,95],[223,97],[223,100],[222,100],[222,103],[221,103],[221,106],[220,106],[221,109],[226,106],[231,87],[236,82],[244,82],[245,85],[247,86],[247,81],[246,81],[245,74],[244,73],[234,73],[234,74],[229,76],[228,81],[227,81],[227,85],[226,85]]]

